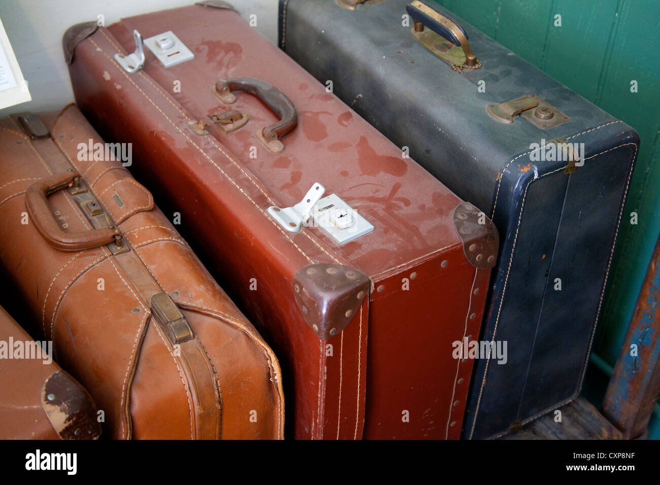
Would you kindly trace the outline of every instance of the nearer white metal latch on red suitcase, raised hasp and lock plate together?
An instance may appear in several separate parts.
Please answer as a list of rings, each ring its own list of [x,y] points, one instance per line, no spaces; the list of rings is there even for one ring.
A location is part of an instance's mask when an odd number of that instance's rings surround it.
[[[298,204],[282,208],[271,206],[268,212],[290,232],[299,232],[300,227],[305,225],[311,216],[314,221],[312,226],[321,228],[339,245],[354,241],[374,230],[372,224],[339,196],[331,194],[323,197],[324,192],[323,185],[314,183]]]

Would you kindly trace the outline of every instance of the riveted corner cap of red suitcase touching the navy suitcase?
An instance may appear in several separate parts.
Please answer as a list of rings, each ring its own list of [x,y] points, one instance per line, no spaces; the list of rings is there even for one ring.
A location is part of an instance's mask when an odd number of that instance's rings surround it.
[[[471,265],[479,269],[494,267],[500,237],[492,220],[469,202],[454,210],[453,219],[456,232],[463,242],[463,252]]]

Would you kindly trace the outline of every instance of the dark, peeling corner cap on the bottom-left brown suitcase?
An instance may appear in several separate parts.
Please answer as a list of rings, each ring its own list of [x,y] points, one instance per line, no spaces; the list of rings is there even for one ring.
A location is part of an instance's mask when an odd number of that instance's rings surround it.
[[[63,370],[53,372],[46,379],[41,403],[61,439],[96,439],[101,434],[92,397]]]

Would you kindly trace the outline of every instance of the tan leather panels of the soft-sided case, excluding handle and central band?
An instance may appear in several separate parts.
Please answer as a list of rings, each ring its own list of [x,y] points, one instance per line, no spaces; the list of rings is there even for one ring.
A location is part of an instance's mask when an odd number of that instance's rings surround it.
[[[104,410],[108,435],[193,437],[191,403],[174,349],[150,316],[149,302],[140,296],[140,288],[105,247],[65,253],[51,247],[30,224],[20,224],[26,184],[53,172],[51,160],[44,160],[6,120],[0,137],[6,154],[0,183],[0,257],[30,303],[40,330],[53,339],[55,356]],[[66,154],[65,161],[81,173],[112,216],[122,221],[119,229],[158,284],[166,292],[179,292],[174,299],[187,308],[185,315],[204,343],[220,383],[222,437],[282,437],[281,371],[269,346],[168,218],[154,208],[147,189],[119,162],[77,160],[79,143],[102,142],[77,108],[63,110],[51,126],[51,137]],[[59,160],[57,166],[62,164]],[[119,195],[123,207],[114,195]],[[68,230],[89,229],[68,194],[55,193],[49,203]],[[97,289],[98,278],[104,280],[103,291]],[[232,392],[235,389],[240,392]],[[251,410],[257,410],[257,423],[249,422]]]

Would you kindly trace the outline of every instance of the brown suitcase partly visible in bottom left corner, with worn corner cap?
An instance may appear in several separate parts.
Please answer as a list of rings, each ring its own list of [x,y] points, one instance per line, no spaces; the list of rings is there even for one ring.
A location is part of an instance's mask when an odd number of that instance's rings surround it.
[[[96,439],[89,393],[0,307],[0,439]]]

